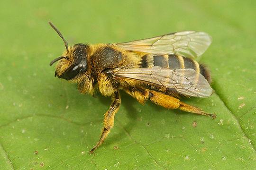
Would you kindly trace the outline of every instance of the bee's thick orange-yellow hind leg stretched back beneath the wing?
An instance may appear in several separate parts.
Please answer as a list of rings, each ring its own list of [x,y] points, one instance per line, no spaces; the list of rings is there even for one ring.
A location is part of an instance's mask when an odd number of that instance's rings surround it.
[[[201,114],[201,115],[208,115],[213,118],[216,117],[215,114],[209,114],[204,111],[202,111],[200,108],[193,107],[191,105],[188,105],[186,103],[180,102],[179,99],[166,95],[161,92],[156,92],[153,90],[148,90],[143,87],[135,87],[132,89],[125,89],[125,91],[133,96],[134,98],[137,99],[138,102],[144,104],[147,99],[150,99],[152,102],[155,104],[158,104],[160,106],[165,107],[166,109],[180,109],[196,114]]]

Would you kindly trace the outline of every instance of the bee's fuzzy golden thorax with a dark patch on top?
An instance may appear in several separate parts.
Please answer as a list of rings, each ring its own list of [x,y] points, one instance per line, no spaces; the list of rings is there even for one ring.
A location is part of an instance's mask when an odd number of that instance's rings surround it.
[[[125,84],[108,77],[104,71],[136,67],[139,62],[134,53],[109,44],[91,45],[90,54],[91,76],[97,80],[99,91],[105,96],[110,96]]]

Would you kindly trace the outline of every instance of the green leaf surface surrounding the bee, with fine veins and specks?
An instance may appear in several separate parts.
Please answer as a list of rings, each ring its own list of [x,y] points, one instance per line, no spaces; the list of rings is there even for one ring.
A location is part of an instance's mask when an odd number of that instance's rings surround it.
[[[252,170],[256,167],[256,12],[253,0],[12,0],[0,6],[1,170]],[[110,98],[54,78],[64,43],[127,42],[181,30],[210,34],[201,62],[215,93],[184,102],[211,119],[144,106],[125,93],[98,141]],[[193,126],[194,125],[194,126]],[[196,125],[196,126],[195,126]],[[37,154],[35,153],[37,151]],[[253,168],[254,167],[254,168]]]

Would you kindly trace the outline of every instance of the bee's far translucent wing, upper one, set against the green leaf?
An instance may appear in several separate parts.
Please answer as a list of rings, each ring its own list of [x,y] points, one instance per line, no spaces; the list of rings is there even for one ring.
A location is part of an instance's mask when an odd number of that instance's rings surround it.
[[[126,50],[151,54],[180,54],[185,57],[198,57],[207,50],[212,39],[210,35],[197,31],[180,31],[144,40],[116,43]]]

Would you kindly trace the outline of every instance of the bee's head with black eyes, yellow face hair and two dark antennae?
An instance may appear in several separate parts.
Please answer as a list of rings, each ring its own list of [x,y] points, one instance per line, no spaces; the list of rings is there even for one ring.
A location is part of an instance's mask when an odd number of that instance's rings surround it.
[[[62,34],[57,28],[49,22],[53,29],[63,39],[66,47],[66,51],[61,57],[58,57],[51,61],[50,66],[56,61],[60,60],[56,65],[55,76],[63,78],[65,80],[79,79],[88,71],[87,51],[89,46],[86,44],[75,44],[72,47],[68,47],[67,42],[64,40]]]

